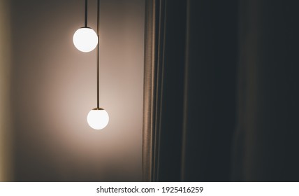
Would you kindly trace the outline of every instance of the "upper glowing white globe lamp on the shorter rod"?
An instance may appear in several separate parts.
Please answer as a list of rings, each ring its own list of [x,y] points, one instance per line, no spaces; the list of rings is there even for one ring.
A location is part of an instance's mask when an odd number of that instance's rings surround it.
[[[82,52],[90,52],[98,45],[98,36],[94,29],[82,27],[73,36],[75,48]]]

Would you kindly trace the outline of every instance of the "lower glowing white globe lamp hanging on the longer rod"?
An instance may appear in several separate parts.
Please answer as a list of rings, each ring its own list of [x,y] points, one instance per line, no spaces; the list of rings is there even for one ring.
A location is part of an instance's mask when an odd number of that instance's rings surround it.
[[[108,125],[109,116],[104,109],[92,109],[87,115],[87,123],[94,130],[101,130]]]

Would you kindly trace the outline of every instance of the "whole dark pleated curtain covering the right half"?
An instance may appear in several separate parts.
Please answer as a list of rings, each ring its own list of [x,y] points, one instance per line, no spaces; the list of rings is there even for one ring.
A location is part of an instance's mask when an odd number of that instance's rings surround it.
[[[299,181],[296,1],[146,4],[144,181]]]

